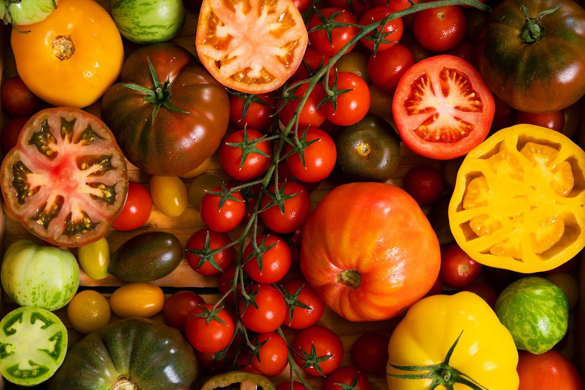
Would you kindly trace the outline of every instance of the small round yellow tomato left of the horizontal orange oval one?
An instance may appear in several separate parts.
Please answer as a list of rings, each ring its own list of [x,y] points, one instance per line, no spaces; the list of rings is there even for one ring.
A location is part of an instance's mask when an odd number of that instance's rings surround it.
[[[108,300],[94,290],[78,293],[67,306],[69,322],[82,334],[88,334],[106,326],[111,314]]]

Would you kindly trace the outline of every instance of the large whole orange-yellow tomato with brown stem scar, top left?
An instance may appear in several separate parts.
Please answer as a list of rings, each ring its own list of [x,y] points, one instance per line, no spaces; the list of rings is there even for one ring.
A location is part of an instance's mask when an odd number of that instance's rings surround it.
[[[122,70],[118,28],[93,0],[61,0],[49,18],[26,30],[12,30],[16,68],[26,86],[50,104],[86,107]]]

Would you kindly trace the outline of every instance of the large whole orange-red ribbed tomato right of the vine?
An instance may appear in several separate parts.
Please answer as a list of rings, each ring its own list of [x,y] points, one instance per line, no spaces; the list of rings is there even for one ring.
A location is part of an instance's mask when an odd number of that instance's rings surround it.
[[[337,187],[309,215],[301,270],[325,303],[350,321],[404,312],[433,286],[439,241],[417,202],[383,183]]]

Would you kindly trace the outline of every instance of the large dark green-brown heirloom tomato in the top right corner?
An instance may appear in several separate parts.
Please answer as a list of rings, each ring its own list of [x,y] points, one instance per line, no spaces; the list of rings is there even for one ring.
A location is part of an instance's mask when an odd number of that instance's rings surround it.
[[[476,53],[481,76],[501,100],[520,111],[551,112],[585,94],[584,48],[585,10],[577,3],[505,0],[487,19]]]

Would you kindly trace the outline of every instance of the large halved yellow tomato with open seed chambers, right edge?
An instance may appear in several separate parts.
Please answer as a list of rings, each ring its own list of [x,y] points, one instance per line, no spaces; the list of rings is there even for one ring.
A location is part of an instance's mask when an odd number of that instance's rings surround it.
[[[449,224],[475,261],[517,272],[553,269],[585,246],[585,152],[559,132],[503,129],[457,173]]]

